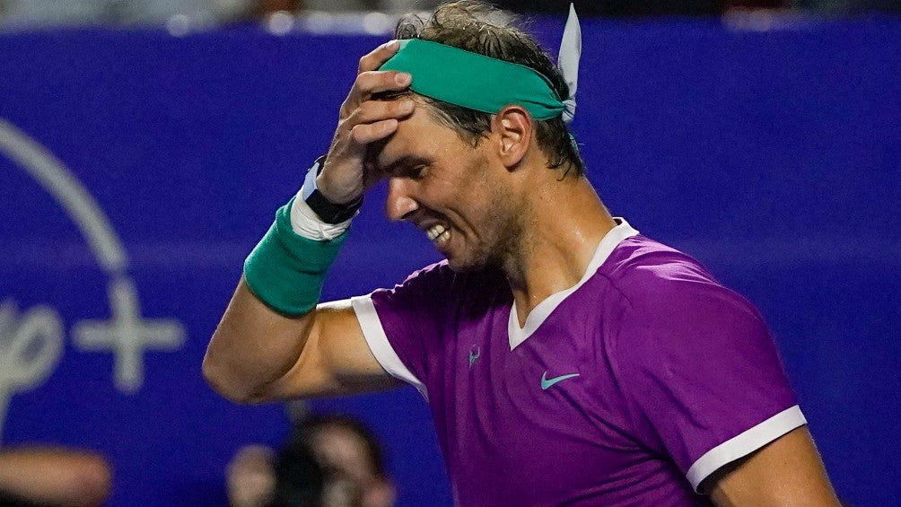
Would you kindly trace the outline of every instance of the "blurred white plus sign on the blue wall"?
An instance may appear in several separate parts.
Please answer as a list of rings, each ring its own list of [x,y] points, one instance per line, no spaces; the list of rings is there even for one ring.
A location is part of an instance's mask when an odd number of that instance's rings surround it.
[[[144,351],[179,349],[185,341],[185,329],[173,319],[141,319],[138,293],[128,278],[117,278],[110,284],[109,299],[112,318],[77,322],[73,338],[79,349],[112,351],[116,388],[137,393],[144,380]]]

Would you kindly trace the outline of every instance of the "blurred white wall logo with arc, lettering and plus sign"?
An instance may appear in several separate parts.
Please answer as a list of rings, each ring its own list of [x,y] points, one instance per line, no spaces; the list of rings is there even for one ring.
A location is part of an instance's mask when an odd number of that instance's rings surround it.
[[[62,206],[75,222],[97,264],[107,275],[109,320],[77,321],[71,330],[78,349],[114,355],[113,379],[124,394],[141,390],[145,350],[177,350],[185,329],[175,319],[141,318],[141,302],[128,257],[103,211],[86,188],[48,149],[0,119],[0,154],[13,160]],[[59,363],[64,326],[46,305],[19,308],[13,298],[0,301],[0,439],[10,397],[41,385]]]

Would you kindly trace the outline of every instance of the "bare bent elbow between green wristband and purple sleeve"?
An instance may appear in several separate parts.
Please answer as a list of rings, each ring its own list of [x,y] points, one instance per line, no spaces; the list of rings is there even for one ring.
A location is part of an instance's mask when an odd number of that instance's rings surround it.
[[[241,280],[206,349],[204,375],[234,401],[351,394],[395,385],[369,350],[349,301],[279,315]]]

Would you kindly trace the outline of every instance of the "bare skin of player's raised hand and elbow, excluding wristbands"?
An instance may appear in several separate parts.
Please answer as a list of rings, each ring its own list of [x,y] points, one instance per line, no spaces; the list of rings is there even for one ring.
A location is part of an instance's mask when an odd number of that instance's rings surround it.
[[[394,133],[397,122],[413,112],[412,101],[371,98],[409,86],[409,76],[376,70],[396,50],[396,42],[383,44],[359,60],[317,177],[316,186],[332,203],[350,203],[374,183],[365,167],[369,144]],[[395,384],[369,351],[349,302],[320,304],[287,317],[261,303],[243,279],[206,349],[204,376],[217,392],[238,402],[350,394]]]

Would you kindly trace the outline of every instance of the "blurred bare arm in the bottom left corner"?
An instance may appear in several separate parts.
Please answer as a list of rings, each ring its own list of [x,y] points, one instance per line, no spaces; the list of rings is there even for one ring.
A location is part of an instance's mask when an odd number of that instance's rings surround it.
[[[104,457],[61,448],[0,451],[0,493],[40,505],[92,506],[110,493],[112,470]]]

